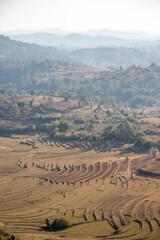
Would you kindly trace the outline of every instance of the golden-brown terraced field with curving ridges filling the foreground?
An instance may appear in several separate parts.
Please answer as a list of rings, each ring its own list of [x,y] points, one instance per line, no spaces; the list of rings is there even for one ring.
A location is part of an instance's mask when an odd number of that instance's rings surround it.
[[[0,145],[8,147],[0,153],[0,221],[21,239],[160,239],[160,179],[135,174],[151,156],[126,160],[100,143],[40,136],[1,137]],[[61,217],[71,227],[44,231],[46,218]]]

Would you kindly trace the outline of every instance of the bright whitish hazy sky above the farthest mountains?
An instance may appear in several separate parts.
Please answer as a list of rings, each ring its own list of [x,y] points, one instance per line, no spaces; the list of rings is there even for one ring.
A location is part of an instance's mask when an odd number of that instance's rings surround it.
[[[160,32],[160,0],[0,0],[0,30]]]

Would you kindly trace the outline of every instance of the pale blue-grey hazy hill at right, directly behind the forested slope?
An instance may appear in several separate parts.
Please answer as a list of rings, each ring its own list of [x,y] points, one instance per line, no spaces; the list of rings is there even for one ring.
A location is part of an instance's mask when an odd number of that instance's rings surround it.
[[[152,62],[160,64],[158,46],[148,49],[137,49],[129,47],[99,47],[93,49],[78,49],[70,55],[81,64],[89,64],[98,68],[108,66],[148,66]]]

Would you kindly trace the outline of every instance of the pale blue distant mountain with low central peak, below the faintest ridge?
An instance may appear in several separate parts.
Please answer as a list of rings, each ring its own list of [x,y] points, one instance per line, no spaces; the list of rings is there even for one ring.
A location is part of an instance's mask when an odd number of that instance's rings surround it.
[[[51,33],[34,33],[10,36],[14,40],[36,43],[44,46],[61,48],[93,48],[98,46],[125,46],[133,45],[134,41],[124,40],[111,36],[87,36],[80,33],[72,33],[66,36]]]

